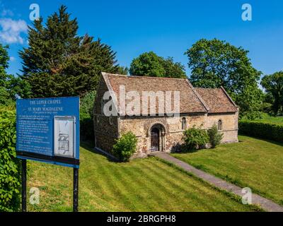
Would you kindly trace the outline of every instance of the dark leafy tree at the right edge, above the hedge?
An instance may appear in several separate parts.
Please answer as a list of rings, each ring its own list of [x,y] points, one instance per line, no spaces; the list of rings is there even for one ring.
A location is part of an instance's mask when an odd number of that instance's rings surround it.
[[[272,112],[281,113],[283,110],[283,71],[263,76],[260,85],[265,88],[267,98],[272,102]]]

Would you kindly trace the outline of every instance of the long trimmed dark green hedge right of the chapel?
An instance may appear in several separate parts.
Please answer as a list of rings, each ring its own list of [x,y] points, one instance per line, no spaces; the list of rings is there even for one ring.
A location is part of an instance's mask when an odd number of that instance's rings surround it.
[[[258,121],[239,121],[239,133],[270,141],[283,142],[283,126]]]

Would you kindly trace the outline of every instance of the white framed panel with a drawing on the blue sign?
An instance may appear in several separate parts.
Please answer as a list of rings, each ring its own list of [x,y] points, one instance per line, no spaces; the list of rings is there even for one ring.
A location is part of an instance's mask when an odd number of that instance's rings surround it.
[[[54,155],[74,157],[75,117],[54,117]]]

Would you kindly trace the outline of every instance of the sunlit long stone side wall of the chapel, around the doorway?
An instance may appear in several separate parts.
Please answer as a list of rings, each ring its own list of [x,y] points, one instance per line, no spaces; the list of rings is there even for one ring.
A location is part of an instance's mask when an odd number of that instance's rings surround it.
[[[173,117],[122,117],[120,119],[120,133],[132,131],[138,138],[137,153],[134,157],[144,157],[150,153],[151,127],[161,124],[165,129],[164,149],[171,152],[180,148],[183,143],[182,119],[185,117],[185,129],[197,126],[209,129],[214,123],[222,121],[222,143],[238,142],[238,112],[226,114],[183,114],[178,118]]]

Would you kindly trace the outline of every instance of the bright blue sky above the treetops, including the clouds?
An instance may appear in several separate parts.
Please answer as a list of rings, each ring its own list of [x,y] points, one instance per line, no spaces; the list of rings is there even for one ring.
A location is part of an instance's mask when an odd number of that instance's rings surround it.
[[[20,73],[18,51],[28,46],[26,26],[32,23],[29,8],[33,3],[40,6],[45,19],[66,5],[79,21],[79,35],[100,37],[117,52],[122,66],[129,66],[143,52],[154,51],[173,57],[187,69],[186,49],[201,38],[216,37],[248,49],[253,66],[264,74],[283,70],[282,0],[0,0],[0,42],[10,46],[8,73]],[[252,6],[252,21],[241,18],[245,3]]]

